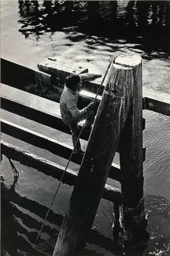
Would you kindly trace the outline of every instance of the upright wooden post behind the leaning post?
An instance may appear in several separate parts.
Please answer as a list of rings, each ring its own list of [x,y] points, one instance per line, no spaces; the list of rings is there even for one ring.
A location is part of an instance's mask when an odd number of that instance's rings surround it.
[[[116,62],[126,66],[129,57],[120,56]],[[133,98],[120,141],[122,174],[123,223],[125,244],[148,237],[143,197],[142,152],[142,66],[133,65]]]

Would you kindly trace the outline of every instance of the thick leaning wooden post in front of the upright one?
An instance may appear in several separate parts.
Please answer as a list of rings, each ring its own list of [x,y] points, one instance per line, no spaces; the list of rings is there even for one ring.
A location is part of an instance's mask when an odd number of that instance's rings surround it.
[[[139,65],[139,56],[129,62]],[[133,67],[112,64],[54,256],[81,255],[133,102]]]

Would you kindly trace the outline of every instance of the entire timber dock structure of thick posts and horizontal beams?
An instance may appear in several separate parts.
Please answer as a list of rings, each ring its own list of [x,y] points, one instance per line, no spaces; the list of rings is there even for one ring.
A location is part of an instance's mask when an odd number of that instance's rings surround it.
[[[59,99],[66,76],[87,72],[87,68],[72,68],[64,63],[61,65],[55,58],[48,58],[38,64],[40,71],[6,59],[1,59],[1,66],[3,109],[71,134],[62,123]],[[15,70],[16,77],[12,80],[7,75],[9,69]],[[20,70],[22,76],[19,78]],[[114,203],[114,242],[119,239],[121,232],[125,245],[145,240],[148,236],[143,197],[143,161],[146,149],[142,148],[142,130],[145,129],[142,109],[169,116],[170,100],[168,94],[158,94],[145,88],[142,95],[141,74],[141,57],[138,55],[119,56],[109,69],[106,81],[99,91],[100,105],[90,137],[85,131],[81,134],[82,139],[88,140],[85,155],[83,159],[81,156],[73,156],[71,160],[81,165],[79,174],[68,169],[63,178],[63,182],[73,185],[74,189],[54,256],[81,255],[101,198]],[[88,90],[88,93],[81,94],[80,108],[95,98],[100,82],[97,79],[95,82],[84,83],[84,90]],[[23,87],[25,83],[26,86]],[[43,105],[48,106],[48,109]],[[5,119],[1,120],[1,131],[64,159],[69,159],[73,149],[66,143]],[[120,154],[120,166],[112,163],[115,152]],[[57,163],[4,141],[1,141],[1,154],[23,164],[27,163],[28,166],[57,179],[60,179],[64,170]],[[119,181],[121,190],[108,186],[108,177]],[[120,218],[123,220],[122,226]]]

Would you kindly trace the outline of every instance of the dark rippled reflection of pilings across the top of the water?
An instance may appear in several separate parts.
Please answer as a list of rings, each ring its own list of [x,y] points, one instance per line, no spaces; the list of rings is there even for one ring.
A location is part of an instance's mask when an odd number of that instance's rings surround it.
[[[25,38],[64,31],[72,42],[102,37],[90,47],[104,37],[139,44],[147,56],[158,52],[166,57],[170,51],[169,1],[19,1],[18,6]]]

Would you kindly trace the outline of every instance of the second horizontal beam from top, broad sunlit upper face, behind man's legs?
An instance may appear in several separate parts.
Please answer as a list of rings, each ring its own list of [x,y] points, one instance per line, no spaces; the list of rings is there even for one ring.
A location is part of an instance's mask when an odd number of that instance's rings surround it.
[[[11,88],[5,84],[2,84],[1,89],[2,109],[71,134],[70,128],[62,122],[58,103],[16,88]],[[145,126],[144,118],[142,124]],[[79,123],[79,128],[82,128],[82,123]],[[81,139],[88,140],[89,135],[89,132],[83,131],[81,133]],[[119,147],[117,148],[117,152],[119,152]]]

